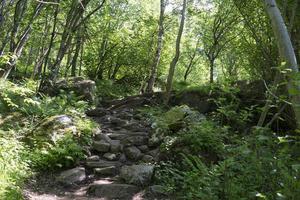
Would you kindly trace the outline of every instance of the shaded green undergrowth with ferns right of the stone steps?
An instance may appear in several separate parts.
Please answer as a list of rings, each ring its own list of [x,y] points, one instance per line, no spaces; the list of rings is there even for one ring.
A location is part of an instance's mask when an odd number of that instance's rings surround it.
[[[143,111],[164,158],[157,183],[176,199],[299,199],[300,137],[253,126],[258,106],[223,94],[214,113],[193,120],[201,114],[187,106]]]

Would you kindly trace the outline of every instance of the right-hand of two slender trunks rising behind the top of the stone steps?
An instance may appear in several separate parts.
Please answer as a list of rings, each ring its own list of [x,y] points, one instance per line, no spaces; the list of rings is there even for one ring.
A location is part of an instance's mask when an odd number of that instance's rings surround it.
[[[180,56],[180,42],[181,42],[181,37],[184,29],[184,23],[185,23],[185,12],[186,12],[186,3],[187,0],[183,0],[183,6],[182,6],[182,13],[181,13],[181,21],[180,21],[180,26],[179,26],[179,31],[177,35],[177,40],[176,40],[176,52],[175,56],[170,64],[169,68],[169,75],[168,75],[168,80],[167,80],[167,86],[166,86],[166,96],[164,103],[168,104],[171,96],[171,91],[172,91],[172,83],[173,83],[173,77],[175,73],[175,67],[178,62],[179,56]]]

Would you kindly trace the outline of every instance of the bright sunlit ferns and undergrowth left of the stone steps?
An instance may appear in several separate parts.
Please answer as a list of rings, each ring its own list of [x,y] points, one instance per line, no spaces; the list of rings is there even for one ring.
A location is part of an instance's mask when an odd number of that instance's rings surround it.
[[[22,199],[22,183],[35,172],[75,165],[85,157],[84,146],[91,143],[96,128],[85,117],[87,102],[73,93],[36,94],[35,88],[30,80],[0,83],[0,199]],[[70,117],[76,130],[66,129],[59,139],[51,140],[51,129],[42,124],[61,115]]]

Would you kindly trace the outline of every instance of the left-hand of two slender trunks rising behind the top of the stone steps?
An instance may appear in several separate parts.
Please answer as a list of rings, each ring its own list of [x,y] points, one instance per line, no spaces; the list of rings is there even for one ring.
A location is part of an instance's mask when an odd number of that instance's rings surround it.
[[[163,36],[164,36],[164,14],[166,9],[165,0],[160,0],[160,17],[159,17],[159,31],[158,31],[158,40],[157,40],[157,49],[155,53],[155,58],[151,67],[150,77],[148,80],[148,85],[146,92],[153,92],[153,87],[155,84],[155,79],[157,76],[157,68],[160,62],[161,50],[163,46]]]

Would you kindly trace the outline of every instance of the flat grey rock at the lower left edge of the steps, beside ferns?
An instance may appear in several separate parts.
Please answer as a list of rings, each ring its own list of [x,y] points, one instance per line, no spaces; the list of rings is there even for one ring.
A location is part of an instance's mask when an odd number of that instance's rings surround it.
[[[85,169],[83,167],[76,167],[74,169],[69,169],[63,171],[56,178],[56,180],[65,185],[73,185],[80,183],[86,179]]]

